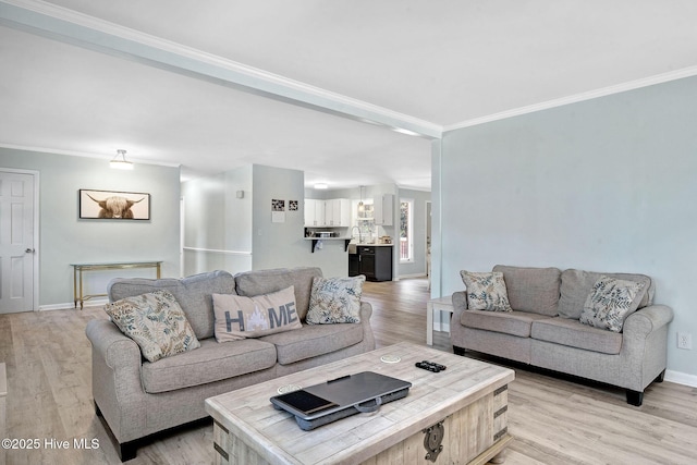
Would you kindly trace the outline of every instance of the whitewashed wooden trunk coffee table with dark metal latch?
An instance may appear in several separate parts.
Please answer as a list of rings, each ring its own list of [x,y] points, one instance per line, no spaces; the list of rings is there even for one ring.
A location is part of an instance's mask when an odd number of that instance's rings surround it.
[[[382,356],[398,356],[384,363]],[[424,359],[448,367],[431,372]],[[282,386],[307,387],[359,371],[412,382],[409,394],[372,414],[303,431],[269,397]],[[514,372],[485,362],[400,343],[206,400],[217,464],[484,464],[512,439],[508,383]],[[501,455],[499,455],[501,456]]]

